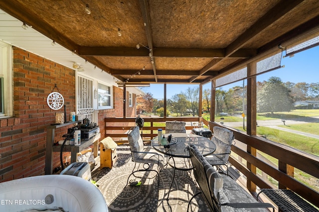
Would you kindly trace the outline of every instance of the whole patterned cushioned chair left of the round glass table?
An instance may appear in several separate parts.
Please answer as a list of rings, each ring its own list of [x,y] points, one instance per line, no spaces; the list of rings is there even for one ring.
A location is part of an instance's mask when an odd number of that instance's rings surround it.
[[[134,175],[136,172],[155,171],[155,172],[157,172],[157,175],[158,175],[160,172],[160,169],[164,167],[164,157],[163,157],[163,155],[159,154],[158,152],[152,152],[151,149],[146,150],[144,148],[144,143],[143,143],[142,137],[140,135],[139,126],[134,127],[132,129],[132,131],[129,132],[128,141],[129,141],[129,144],[131,147],[132,161],[135,162],[135,166],[132,170],[132,173],[130,174],[130,176],[128,178],[126,185],[129,184],[130,177],[132,175]],[[139,164],[139,165],[137,165],[137,164]],[[141,164],[143,164],[142,168],[140,168]],[[157,164],[157,166],[158,166],[157,169],[150,169],[150,164]],[[136,168],[137,168],[137,170],[136,170]],[[160,178],[158,181],[160,184]]]

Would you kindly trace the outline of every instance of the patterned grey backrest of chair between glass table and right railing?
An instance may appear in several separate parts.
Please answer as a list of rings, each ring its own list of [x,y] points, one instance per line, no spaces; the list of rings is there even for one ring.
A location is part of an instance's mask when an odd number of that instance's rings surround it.
[[[233,132],[226,128],[215,126],[213,127],[213,135],[214,136],[211,140],[216,145],[216,150],[214,151],[214,154],[220,154],[217,156],[222,161],[227,162],[230,154],[231,144],[234,140]]]

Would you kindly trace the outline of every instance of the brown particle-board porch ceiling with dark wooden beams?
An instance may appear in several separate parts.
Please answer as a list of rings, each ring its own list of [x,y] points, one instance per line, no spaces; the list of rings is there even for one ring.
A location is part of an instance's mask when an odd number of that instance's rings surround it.
[[[319,25],[319,0],[0,0],[0,9],[127,85],[206,83]]]

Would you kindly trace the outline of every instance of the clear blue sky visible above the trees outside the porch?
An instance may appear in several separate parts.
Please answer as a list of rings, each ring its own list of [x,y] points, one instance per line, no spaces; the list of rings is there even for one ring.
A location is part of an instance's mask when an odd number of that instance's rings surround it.
[[[283,55],[285,55],[285,52]],[[278,76],[283,82],[319,82],[319,46],[297,53],[294,57],[283,58],[281,65],[285,67],[276,71],[260,74],[257,76],[257,81],[268,80],[271,76]],[[228,90],[230,87],[236,85],[243,86],[243,82],[240,81],[223,86],[222,88]],[[198,85],[191,84],[167,84],[167,98],[171,98],[174,94],[184,92],[188,87],[197,86]],[[162,99],[164,97],[163,87],[163,84],[151,84],[150,87],[144,87],[143,91],[152,93],[156,99]],[[203,86],[203,90],[210,87],[210,83],[207,83]]]

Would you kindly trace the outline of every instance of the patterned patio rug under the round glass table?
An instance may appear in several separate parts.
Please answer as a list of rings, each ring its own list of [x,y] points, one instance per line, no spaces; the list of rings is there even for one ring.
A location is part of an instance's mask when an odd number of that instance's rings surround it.
[[[110,212],[186,212],[189,199],[199,191],[193,182],[192,172],[176,170],[167,201],[173,176],[170,166],[162,169],[159,176],[156,176],[156,172],[138,172],[136,177],[130,177],[130,181],[141,181],[141,185],[130,186],[129,183],[126,186],[135,164],[131,159],[130,147],[118,146],[117,156],[112,169],[102,168],[92,172],[92,179],[97,181]],[[153,169],[156,167],[157,165]],[[207,210],[201,195],[192,200],[189,211]]]

